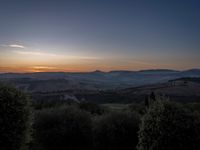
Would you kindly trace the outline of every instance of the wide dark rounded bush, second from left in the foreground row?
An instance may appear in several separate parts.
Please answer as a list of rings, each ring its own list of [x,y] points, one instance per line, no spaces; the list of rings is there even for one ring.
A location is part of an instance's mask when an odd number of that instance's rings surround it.
[[[90,115],[72,106],[39,111],[35,117],[35,140],[46,150],[78,150],[91,144]]]

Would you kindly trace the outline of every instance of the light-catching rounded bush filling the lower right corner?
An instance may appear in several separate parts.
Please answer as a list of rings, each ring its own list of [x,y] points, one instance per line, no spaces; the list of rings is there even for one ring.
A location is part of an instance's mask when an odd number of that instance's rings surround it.
[[[138,150],[200,149],[199,116],[168,101],[154,102],[142,119]]]

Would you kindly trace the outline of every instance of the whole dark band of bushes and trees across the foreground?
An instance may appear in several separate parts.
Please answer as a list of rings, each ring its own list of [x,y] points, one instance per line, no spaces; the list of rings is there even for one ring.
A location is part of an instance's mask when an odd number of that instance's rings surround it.
[[[199,150],[200,104],[151,94],[122,109],[0,87],[0,150]]]

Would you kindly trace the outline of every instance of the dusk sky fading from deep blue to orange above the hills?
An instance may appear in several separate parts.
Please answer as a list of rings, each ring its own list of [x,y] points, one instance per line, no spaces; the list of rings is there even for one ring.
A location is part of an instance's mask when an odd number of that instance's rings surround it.
[[[200,68],[199,0],[0,0],[0,72]]]

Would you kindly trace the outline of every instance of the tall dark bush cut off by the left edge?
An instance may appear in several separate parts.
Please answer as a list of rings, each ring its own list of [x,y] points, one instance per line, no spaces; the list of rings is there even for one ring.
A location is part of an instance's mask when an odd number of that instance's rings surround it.
[[[19,150],[28,142],[30,107],[21,91],[0,86],[0,149]]]

